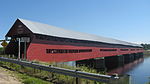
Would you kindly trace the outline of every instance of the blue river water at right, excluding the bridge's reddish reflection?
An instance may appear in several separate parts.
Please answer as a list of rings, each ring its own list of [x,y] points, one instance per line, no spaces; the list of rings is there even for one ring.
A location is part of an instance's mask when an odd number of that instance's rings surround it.
[[[131,76],[131,84],[148,84],[150,82],[150,57],[145,57],[126,74]]]

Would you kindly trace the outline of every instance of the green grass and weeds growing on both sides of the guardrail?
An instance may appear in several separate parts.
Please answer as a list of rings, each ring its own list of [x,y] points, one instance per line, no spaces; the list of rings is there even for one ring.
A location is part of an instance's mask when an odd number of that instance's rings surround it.
[[[81,71],[86,71],[90,73],[97,73],[96,70],[90,69],[88,67],[71,67],[67,65],[56,65],[55,63],[43,63],[39,61],[34,61],[38,64],[53,65],[57,67],[63,67],[67,69],[79,69]],[[24,67],[17,64],[9,62],[0,62],[0,66],[6,67],[12,71],[15,71],[18,78],[21,79],[24,84],[76,84],[76,78],[66,75],[60,75],[53,72],[42,71],[30,67]],[[99,74],[104,74],[103,72]],[[95,82],[87,79],[79,79],[81,84],[104,84],[100,82]]]

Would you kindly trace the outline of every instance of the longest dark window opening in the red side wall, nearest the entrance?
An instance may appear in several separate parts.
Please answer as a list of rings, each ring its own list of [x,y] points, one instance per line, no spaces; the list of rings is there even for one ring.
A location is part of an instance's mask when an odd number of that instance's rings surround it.
[[[84,53],[92,52],[92,49],[46,49],[46,53]]]

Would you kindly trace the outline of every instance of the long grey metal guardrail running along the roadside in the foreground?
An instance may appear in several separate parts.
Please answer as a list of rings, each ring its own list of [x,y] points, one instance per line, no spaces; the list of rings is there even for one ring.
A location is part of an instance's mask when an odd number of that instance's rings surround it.
[[[10,58],[4,58],[4,57],[0,57],[0,61],[15,63],[18,65],[27,66],[27,67],[31,67],[31,68],[35,68],[35,69],[40,69],[40,70],[44,70],[44,71],[48,71],[48,72],[55,72],[58,74],[79,77],[79,78],[85,78],[85,79],[99,81],[99,82],[105,82],[105,83],[109,83],[112,80],[119,79],[118,77],[109,76],[109,75],[94,74],[94,73],[82,72],[82,71],[77,71],[77,70],[70,70],[70,69],[64,69],[64,68],[59,68],[59,67],[40,65],[40,64],[33,63],[33,62],[20,61],[17,59],[10,59]]]

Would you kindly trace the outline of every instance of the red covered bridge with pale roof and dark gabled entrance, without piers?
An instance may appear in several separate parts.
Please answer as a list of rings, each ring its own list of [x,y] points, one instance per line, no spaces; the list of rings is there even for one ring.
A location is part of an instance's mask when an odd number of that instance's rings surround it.
[[[28,60],[46,62],[67,62],[143,52],[142,46],[138,44],[24,19],[17,19],[6,37],[11,38],[6,47],[7,54],[20,54]]]

